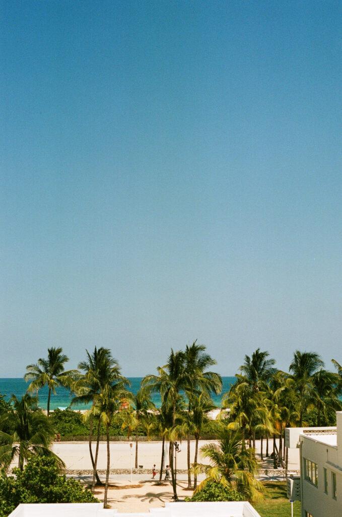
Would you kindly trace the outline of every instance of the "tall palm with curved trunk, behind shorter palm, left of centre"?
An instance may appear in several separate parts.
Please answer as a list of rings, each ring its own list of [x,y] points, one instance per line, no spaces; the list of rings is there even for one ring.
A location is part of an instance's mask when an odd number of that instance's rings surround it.
[[[84,371],[74,384],[74,391],[76,396],[71,400],[71,406],[76,404],[89,404],[94,405],[96,396],[101,393],[101,390],[106,386],[108,377],[113,375],[118,367],[118,363],[112,358],[109,348],[94,348],[94,351],[90,354],[86,350],[87,358],[85,361],[81,361],[78,364],[78,368]],[[96,440],[96,461],[97,454],[99,452],[100,443],[100,420],[97,422],[97,440]],[[89,416],[89,453],[93,467],[93,477],[95,476],[97,484],[102,484],[102,481],[97,474],[95,467],[95,461],[92,452],[92,426],[93,426],[93,414]],[[93,490],[95,481],[93,480]]]

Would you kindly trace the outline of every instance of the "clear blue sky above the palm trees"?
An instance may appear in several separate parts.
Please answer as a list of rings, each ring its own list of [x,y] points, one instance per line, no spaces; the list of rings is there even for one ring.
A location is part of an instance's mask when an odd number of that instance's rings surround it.
[[[342,3],[1,3],[0,376],[342,362]]]

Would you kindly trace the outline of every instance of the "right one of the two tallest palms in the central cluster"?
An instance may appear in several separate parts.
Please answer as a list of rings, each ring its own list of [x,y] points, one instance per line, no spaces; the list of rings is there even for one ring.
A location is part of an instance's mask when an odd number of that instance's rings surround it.
[[[222,390],[222,377],[216,372],[206,371],[216,364],[205,352],[205,345],[198,345],[197,340],[185,348],[185,368],[190,378],[190,385],[186,388],[188,397],[188,413],[191,414],[191,395],[198,392],[208,397],[211,392],[218,394]],[[191,488],[190,470],[190,434],[187,433],[187,461],[188,461],[188,489]]]

